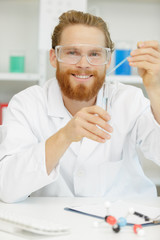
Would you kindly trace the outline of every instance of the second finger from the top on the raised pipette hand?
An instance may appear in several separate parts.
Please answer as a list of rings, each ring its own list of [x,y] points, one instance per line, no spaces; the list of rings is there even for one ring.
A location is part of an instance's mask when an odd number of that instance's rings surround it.
[[[137,55],[146,55],[146,54],[160,59],[160,53],[153,48],[136,49],[136,50],[133,50],[130,55],[132,57],[134,57],[134,56],[137,56]]]

